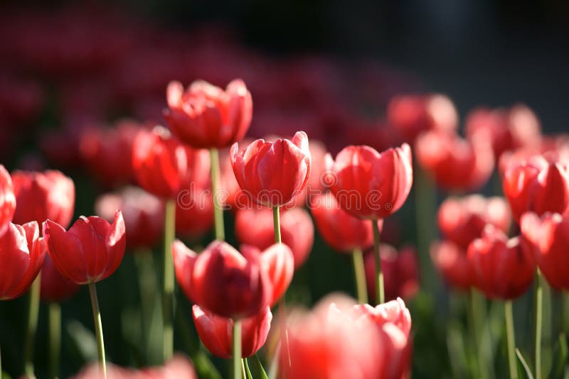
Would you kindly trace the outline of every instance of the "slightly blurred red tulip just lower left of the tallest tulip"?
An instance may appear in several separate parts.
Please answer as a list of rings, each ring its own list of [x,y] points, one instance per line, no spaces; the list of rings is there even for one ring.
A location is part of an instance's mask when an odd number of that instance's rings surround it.
[[[193,196],[196,190],[208,186],[207,150],[188,148],[165,128],[139,132],[132,150],[134,175],[151,194],[176,199],[183,189]]]

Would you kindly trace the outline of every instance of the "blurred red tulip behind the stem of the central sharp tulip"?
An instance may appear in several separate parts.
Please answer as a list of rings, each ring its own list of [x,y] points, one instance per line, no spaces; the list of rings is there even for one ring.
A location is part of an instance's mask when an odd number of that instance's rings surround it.
[[[300,208],[280,212],[282,243],[292,251],[294,269],[308,258],[314,243],[314,225],[307,211]],[[242,209],[235,214],[235,236],[239,243],[265,250],[275,243],[272,210]]]

